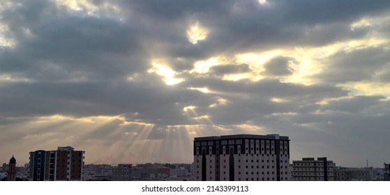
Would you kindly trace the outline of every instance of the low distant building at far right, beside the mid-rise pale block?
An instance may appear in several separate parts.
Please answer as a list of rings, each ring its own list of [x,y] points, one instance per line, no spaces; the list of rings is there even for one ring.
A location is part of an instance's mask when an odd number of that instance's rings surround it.
[[[370,181],[374,177],[373,168],[345,168],[334,169],[336,181]]]

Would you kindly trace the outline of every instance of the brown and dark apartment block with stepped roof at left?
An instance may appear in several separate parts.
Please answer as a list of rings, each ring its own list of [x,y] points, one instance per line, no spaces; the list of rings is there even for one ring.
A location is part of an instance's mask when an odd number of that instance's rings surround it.
[[[70,146],[30,152],[29,178],[33,181],[82,180],[84,153]]]

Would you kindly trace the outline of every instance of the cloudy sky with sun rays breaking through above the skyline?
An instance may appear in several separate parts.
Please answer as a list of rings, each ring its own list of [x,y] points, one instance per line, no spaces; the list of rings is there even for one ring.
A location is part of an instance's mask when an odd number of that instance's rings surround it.
[[[390,162],[390,1],[0,0],[0,163],[193,162],[280,134],[290,160]]]

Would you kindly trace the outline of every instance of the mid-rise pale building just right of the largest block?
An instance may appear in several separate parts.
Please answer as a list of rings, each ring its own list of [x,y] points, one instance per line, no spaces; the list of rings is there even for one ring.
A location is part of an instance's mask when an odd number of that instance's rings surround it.
[[[315,160],[306,157],[302,160],[294,160],[292,176],[299,181],[333,181],[335,164],[327,157],[319,157]]]

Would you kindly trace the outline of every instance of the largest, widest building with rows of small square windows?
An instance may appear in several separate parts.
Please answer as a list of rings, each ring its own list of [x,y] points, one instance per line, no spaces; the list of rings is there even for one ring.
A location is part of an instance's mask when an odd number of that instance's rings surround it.
[[[195,137],[194,180],[289,180],[290,140],[279,134]]]

